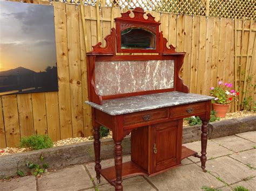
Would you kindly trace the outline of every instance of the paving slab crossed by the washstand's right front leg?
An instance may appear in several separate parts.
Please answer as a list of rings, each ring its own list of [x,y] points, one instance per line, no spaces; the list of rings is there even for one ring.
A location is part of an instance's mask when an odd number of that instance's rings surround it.
[[[193,151],[196,151],[200,154],[201,152],[201,142],[193,142],[193,143],[187,143],[184,146],[187,148],[190,148]],[[207,159],[210,160],[211,158],[220,157],[227,154],[232,154],[234,152],[228,150],[227,148],[220,146],[217,143],[212,142],[212,140],[208,140],[207,142],[207,148],[206,148],[206,156]],[[190,157],[190,159],[194,162],[199,162],[200,159],[197,157]]]

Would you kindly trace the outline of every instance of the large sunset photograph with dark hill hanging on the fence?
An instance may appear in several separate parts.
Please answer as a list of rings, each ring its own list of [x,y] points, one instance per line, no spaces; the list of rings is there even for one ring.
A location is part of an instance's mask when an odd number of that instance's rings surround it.
[[[0,7],[0,95],[58,91],[52,6]]]

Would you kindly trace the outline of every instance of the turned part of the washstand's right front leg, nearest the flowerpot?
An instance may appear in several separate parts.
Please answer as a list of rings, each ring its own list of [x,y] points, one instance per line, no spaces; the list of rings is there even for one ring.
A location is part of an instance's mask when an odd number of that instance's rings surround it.
[[[204,172],[206,172],[205,169],[205,162],[207,160],[206,157],[206,146],[207,146],[207,135],[208,135],[208,121],[203,121],[202,127],[201,127],[201,168]]]

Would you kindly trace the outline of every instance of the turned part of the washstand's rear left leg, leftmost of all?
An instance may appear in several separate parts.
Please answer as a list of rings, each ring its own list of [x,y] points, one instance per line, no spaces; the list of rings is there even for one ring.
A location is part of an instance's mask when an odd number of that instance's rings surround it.
[[[99,125],[93,126],[94,133],[94,151],[95,151],[95,171],[96,171],[96,178],[98,183],[100,183],[100,173],[99,170],[102,169],[102,166],[100,165],[100,140],[99,140]]]

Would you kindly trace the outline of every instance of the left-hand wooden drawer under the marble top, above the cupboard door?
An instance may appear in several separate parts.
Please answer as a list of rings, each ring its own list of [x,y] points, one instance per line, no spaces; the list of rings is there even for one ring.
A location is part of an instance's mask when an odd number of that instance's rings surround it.
[[[168,119],[168,108],[154,109],[124,115],[124,126],[149,124],[151,122]]]

